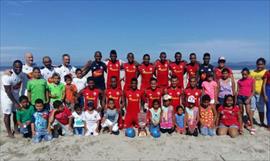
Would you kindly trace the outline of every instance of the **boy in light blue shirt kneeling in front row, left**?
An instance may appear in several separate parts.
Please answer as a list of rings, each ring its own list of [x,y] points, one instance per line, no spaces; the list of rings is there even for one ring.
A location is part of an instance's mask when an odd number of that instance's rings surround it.
[[[42,139],[52,140],[50,125],[48,124],[49,113],[44,109],[42,99],[35,101],[36,112],[32,115],[31,129],[33,142],[39,143]]]

